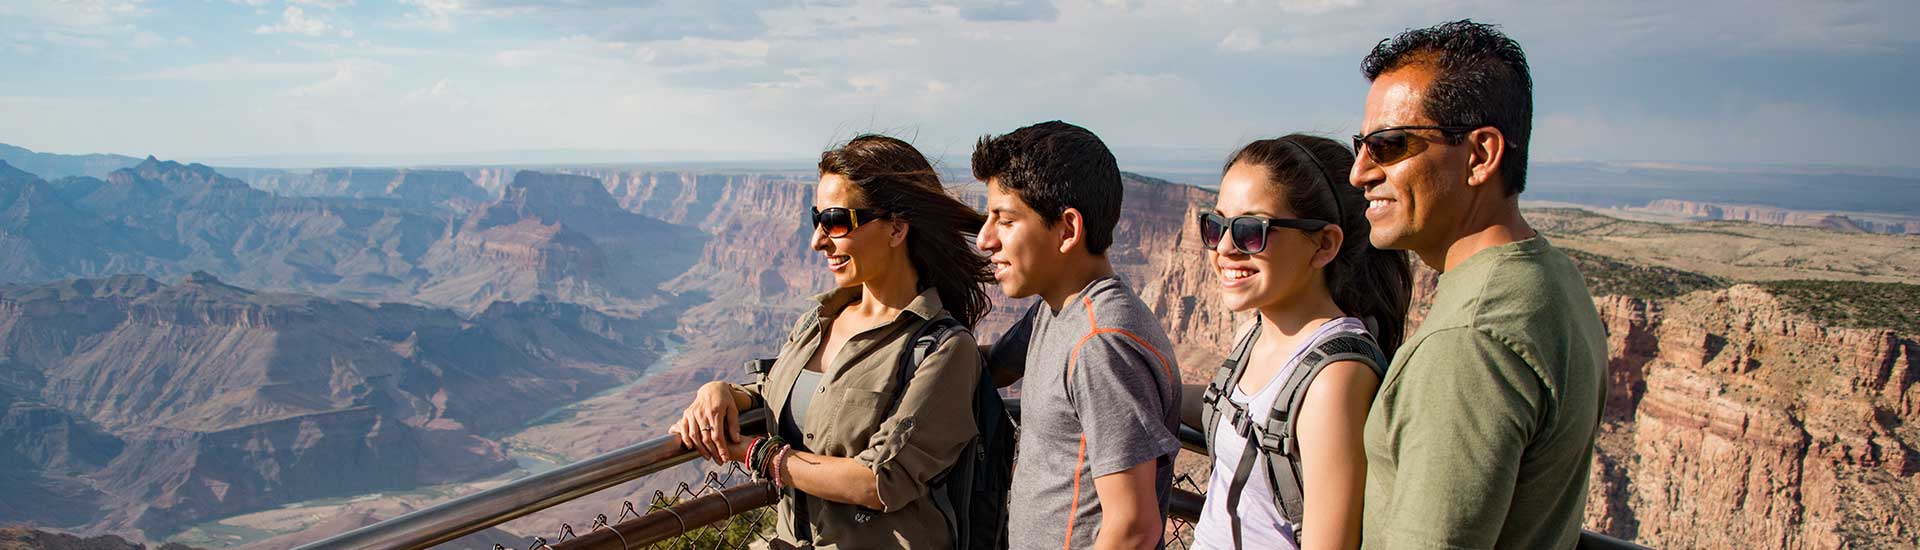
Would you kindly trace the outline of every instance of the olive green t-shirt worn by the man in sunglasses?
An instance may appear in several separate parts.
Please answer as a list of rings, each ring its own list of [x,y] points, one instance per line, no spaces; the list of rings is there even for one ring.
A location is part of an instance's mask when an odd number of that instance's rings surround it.
[[[1367,415],[1365,548],[1572,548],[1607,335],[1580,271],[1534,237],[1440,275]]]

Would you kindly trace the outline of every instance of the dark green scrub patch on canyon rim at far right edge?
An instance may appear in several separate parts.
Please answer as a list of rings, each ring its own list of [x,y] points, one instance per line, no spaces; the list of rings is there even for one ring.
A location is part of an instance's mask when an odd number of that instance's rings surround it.
[[[1759,283],[1788,310],[1849,329],[1920,333],[1920,285],[1859,281]]]

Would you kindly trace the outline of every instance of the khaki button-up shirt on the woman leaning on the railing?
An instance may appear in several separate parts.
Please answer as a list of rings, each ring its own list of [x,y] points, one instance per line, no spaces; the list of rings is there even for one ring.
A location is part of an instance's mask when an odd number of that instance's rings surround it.
[[[814,296],[820,323],[806,331],[806,315],[780,350],[766,379],[741,390],[766,404],[770,427],[780,427],[787,394],[806,362],[820,350],[833,317],[860,298],[860,288]],[[797,425],[814,454],[852,458],[874,471],[885,510],[824,498],[780,502],[774,548],[952,548],[947,515],[927,498],[931,479],[947,471],[973,440],[973,387],[979,350],[973,335],[958,331],[914,371],[906,396],[899,394],[900,354],[914,333],[943,313],[933,288],[920,292],[893,321],[847,340],[824,365],[820,388]],[[887,408],[899,408],[887,415]],[[804,502],[812,540],[795,537],[795,502]]]

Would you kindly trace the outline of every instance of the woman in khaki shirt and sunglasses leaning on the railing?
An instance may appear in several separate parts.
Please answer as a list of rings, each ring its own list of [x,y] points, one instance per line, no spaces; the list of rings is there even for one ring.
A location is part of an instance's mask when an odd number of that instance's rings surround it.
[[[979,352],[954,331],[910,381],[897,373],[924,323],[972,327],[987,313],[993,275],[968,244],[985,219],[914,146],[877,135],[820,156],[808,219],[837,288],[814,298],[760,383],[701,387],[670,433],[787,488],[776,548],[950,548],[927,483],[973,438],[956,419],[973,417]],[[776,437],[739,435],[737,413],[755,404]]]

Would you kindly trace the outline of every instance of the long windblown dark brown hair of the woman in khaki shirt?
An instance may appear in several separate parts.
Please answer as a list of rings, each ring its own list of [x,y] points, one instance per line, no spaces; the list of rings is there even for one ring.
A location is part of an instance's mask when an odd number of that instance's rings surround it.
[[[862,135],[820,154],[820,175],[828,173],[851,181],[868,208],[912,227],[906,231],[906,258],[920,273],[920,288],[933,287],[947,312],[968,327],[987,315],[993,304],[983,285],[993,281],[993,271],[987,269],[987,256],[968,242],[987,217],[947,194],[941,175],[920,150],[899,138]]]

